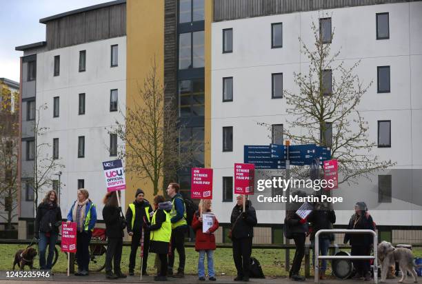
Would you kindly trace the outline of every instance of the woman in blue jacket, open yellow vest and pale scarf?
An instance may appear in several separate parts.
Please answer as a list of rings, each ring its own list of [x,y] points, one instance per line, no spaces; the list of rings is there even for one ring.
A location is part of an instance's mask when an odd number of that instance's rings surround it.
[[[88,190],[83,188],[78,190],[78,199],[74,201],[68,213],[68,221],[77,223],[77,252],[76,258],[78,263],[78,271],[76,276],[87,276],[88,265],[90,263],[89,245],[97,222],[97,210],[95,205],[88,197]]]

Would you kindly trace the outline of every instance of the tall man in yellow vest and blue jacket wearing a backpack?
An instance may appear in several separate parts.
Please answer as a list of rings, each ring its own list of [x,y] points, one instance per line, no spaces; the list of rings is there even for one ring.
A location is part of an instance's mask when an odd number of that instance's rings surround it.
[[[179,183],[170,183],[167,187],[167,194],[172,198],[172,254],[168,256],[168,275],[173,277],[185,276],[185,233],[188,232],[188,222],[186,221],[186,206],[183,196],[179,194]],[[173,274],[174,250],[179,254],[179,268],[177,274]]]

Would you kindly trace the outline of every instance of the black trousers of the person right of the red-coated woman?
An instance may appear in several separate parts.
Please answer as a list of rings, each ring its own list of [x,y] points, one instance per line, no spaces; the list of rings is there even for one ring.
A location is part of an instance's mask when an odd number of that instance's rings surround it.
[[[237,276],[250,274],[250,254],[252,254],[252,238],[232,239],[233,260]]]

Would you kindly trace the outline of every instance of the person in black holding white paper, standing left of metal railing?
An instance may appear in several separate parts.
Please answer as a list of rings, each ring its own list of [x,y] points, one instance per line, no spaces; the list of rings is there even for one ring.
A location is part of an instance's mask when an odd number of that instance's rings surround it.
[[[301,190],[297,190],[292,192],[291,195],[305,197],[306,193]],[[305,239],[306,234],[308,233],[308,223],[306,219],[301,219],[301,217],[296,214],[301,205],[302,203],[288,204],[284,224],[288,226],[288,230],[292,232],[294,245],[296,245],[296,252],[294,253],[292,267],[289,272],[289,278],[292,278],[294,281],[305,281],[305,277],[299,275],[299,271],[301,270],[303,256],[305,255]]]

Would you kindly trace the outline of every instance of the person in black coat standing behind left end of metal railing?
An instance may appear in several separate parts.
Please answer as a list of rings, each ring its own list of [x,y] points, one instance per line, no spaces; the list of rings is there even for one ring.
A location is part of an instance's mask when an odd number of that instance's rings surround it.
[[[314,204],[314,210],[308,215],[308,222],[310,223],[311,233],[310,241],[312,247],[315,248],[315,234],[319,230],[330,230],[332,224],[336,223],[336,213],[332,210],[332,206],[327,202],[317,202]],[[328,247],[330,241],[334,241],[334,234],[321,234],[319,236],[319,250],[320,255],[328,255]],[[315,265],[315,250],[312,250],[312,263]],[[325,270],[327,270],[327,261],[321,261],[319,278],[325,279]]]

